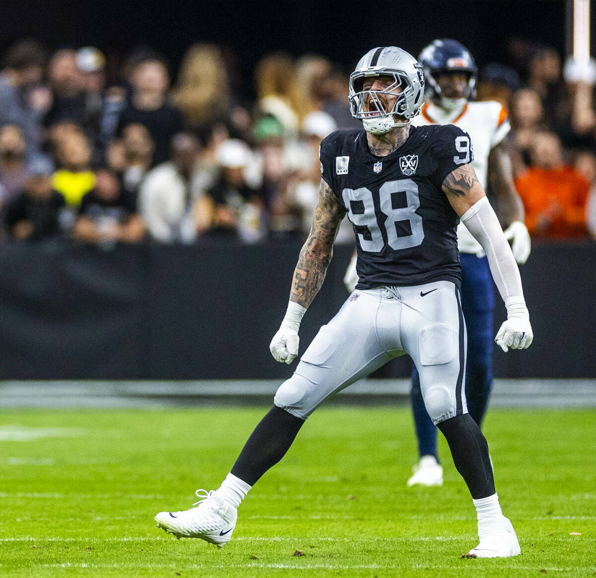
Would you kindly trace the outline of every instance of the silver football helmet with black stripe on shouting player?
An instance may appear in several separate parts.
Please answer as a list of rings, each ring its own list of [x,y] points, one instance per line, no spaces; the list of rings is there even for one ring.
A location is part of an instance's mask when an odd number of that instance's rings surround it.
[[[363,90],[364,80],[371,76],[390,76],[393,82],[383,90]],[[400,92],[396,94],[394,91],[398,88]],[[391,110],[384,109],[379,98],[381,94],[398,97]],[[373,48],[358,61],[356,69],[350,75],[348,99],[352,116],[362,120],[367,132],[383,134],[394,126],[408,125],[420,112],[424,100],[422,66],[401,48]],[[367,109],[370,110],[364,109],[367,103]]]

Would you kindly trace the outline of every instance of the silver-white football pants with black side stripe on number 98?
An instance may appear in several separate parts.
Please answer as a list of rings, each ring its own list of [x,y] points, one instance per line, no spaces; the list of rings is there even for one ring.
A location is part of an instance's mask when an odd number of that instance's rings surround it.
[[[321,327],[274,403],[306,419],[328,396],[409,353],[434,424],[467,413],[464,316],[449,281],[355,290]]]

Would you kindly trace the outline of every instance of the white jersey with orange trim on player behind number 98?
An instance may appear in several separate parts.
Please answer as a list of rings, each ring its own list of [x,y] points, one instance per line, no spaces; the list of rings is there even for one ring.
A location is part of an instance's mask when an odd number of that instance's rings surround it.
[[[474,160],[471,164],[480,184],[486,190],[488,156],[491,149],[505,138],[511,128],[504,106],[494,101],[467,103],[461,112],[455,113],[455,115],[446,115],[434,104],[425,103],[420,115],[412,120],[412,125],[433,124],[459,126],[470,135],[474,147]],[[461,253],[484,255],[480,243],[474,239],[461,222],[457,228],[457,244]]]

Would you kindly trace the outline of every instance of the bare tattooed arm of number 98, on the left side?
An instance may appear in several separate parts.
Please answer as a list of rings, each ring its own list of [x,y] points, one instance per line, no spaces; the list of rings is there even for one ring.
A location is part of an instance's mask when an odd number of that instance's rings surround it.
[[[308,307],[321,289],[333,255],[333,242],[346,210],[321,180],[311,233],[300,251],[290,291],[290,301]]]

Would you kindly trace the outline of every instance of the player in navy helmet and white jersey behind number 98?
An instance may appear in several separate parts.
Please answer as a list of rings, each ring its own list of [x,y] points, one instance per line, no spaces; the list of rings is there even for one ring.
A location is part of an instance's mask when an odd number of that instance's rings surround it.
[[[499,221],[519,264],[530,254],[530,236],[523,224],[523,205],[513,184],[511,161],[504,138],[510,130],[507,111],[496,102],[474,98],[476,64],[470,52],[455,40],[435,40],[418,57],[426,77],[427,103],[412,124],[454,124],[464,129],[474,145],[471,165],[480,184],[487,181],[495,193]],[[461,262],[461,307],[468,333],[465,397],[468,412],[482,427],[492,388],[493,295],[489,263],[480,244],[464,224],[457,228]],[[420,460],[408,486],[440,486],[443,468],[437,453],[437,428],[424,407],[420,376],[412,369],[412,412]]]

